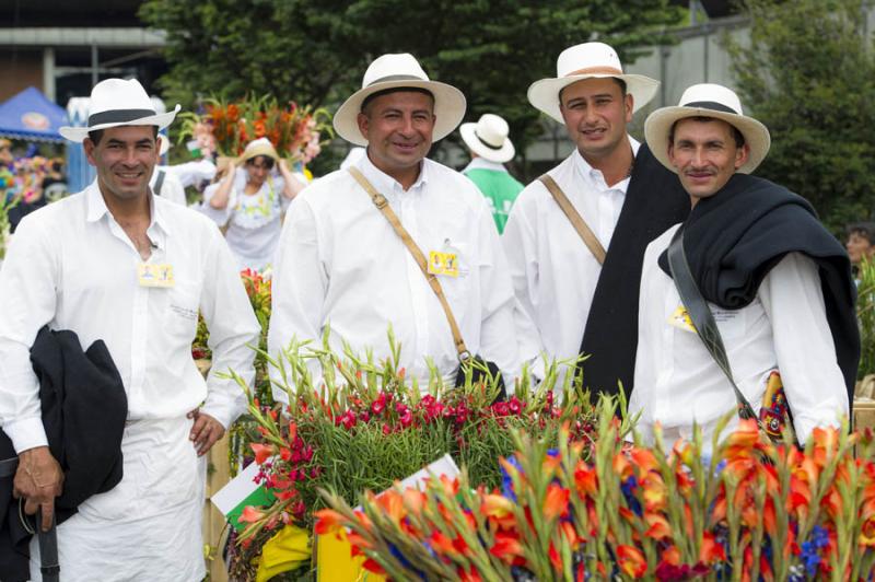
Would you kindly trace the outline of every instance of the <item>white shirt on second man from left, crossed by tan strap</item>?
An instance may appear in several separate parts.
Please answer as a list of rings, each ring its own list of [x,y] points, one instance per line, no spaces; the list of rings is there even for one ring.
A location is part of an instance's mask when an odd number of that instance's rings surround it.
[[[458,276],[439,275],[471,353],[517,373],[513,290],[495,224],[477,187],[431,160],[407,190],[365,155],[355,163],[383,194],[428,257],[455,254]],[[342,340],[375,359],[389,356],[387,328],[401,346],[400,365],[428,380],[427,358],[448,376],[458,354],[446,315],[410,252],[371,197],[347,171],[308,186],[292,202],[273,273],[268,345],[276,354],[293,337],[316,340],[330,326]],[[315,371],[315,368],[314,368]],[[278,398],[283,395],[278,394]]]

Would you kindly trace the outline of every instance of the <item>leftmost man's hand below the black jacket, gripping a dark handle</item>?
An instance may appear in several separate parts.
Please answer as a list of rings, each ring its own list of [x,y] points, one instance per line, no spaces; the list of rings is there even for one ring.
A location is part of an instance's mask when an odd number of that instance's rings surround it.
[[[48,446],[28,449],[19,454],[12,494],[24,498],[24,513],[42,509],[43,531],[48,532],[55,516],[55,498],[63,491],[63,472]]]

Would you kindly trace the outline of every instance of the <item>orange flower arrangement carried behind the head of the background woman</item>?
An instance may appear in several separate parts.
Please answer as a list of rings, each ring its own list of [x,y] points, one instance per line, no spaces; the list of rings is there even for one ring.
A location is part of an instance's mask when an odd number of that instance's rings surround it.
[[[237,102],[210,97],[201,114],[182,114],[182,140],[198,143],[201,154],[212,152],[236,158],[246,143],[268,138],[279,154],[306,164],[318,155],[320,136],[330,132],[330,116],[325,109],[280,104],[276,97],[247,96]]]

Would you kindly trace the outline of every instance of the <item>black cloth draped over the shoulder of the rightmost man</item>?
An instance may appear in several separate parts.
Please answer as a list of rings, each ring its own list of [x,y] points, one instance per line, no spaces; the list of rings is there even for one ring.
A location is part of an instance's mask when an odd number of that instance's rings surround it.
[[[684,248],[702,295],[726,310],[754,301],[762,279],[788,253],[812,258],[848,401],[853,404],[860,329],[851,263],[807,200],[767,179],[735,174],[692,209],[684,225]],[[666,253],[660,256],[660,267],[670,277]]]

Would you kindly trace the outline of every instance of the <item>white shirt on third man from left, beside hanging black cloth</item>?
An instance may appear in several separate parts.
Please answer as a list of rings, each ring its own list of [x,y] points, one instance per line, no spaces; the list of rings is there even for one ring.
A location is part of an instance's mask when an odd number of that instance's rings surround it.
[[[640,143],[629,138],[633,153]],[[607,249],[620,218],[629,178],[608,186],[575,149],[548,174]],[[580,353],[602,266],[540,181],[520,193],[502,234],[516,294],[521,356],[557,360]]]

